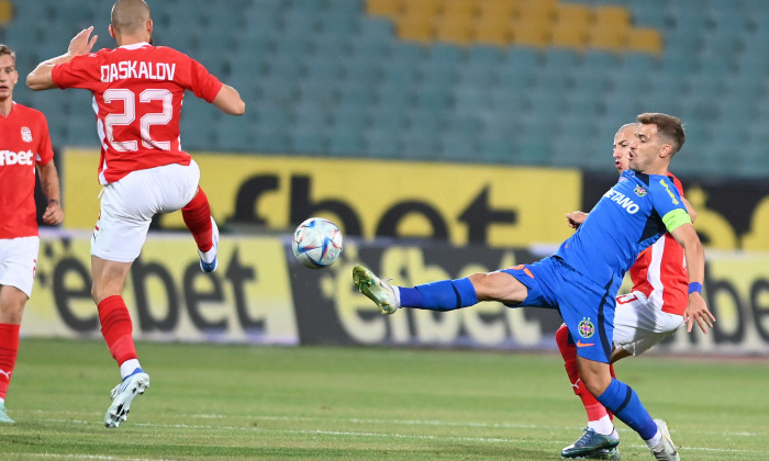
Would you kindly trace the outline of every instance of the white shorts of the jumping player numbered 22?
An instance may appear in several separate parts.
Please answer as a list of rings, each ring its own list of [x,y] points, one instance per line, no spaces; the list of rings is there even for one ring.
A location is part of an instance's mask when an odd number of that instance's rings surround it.
[[[133,171],[104,185],[91,255],[133,262],[142,251],[153,216],[190,203],[199,181],[200,168],[191,160],[189,166],[174,164]]]

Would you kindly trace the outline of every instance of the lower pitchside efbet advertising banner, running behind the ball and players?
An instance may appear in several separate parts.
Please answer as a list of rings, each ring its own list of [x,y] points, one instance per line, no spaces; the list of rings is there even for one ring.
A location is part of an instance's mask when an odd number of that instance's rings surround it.
[[[414,285],[533,262],[528,249],[382,245],[347,239],[327,269],[299,265],[290,236],[222,234],[219,269],[202,273],[186,233],[151,233],[124,299],[142,340],[279,345],[390,345],[555,349],[557,312],[481,303],[433,313],[382,316],[352,282],[364,263],[393,283]],[[22,323],[26,336],[100,338],[90,299],[88,234],[43,234],[37,277]],[[703,335],[680,330],[657,351],[769,356],[767,254],[709,254],[703,295],[717,318]],[[625,288],[626,289],[626,288]]]

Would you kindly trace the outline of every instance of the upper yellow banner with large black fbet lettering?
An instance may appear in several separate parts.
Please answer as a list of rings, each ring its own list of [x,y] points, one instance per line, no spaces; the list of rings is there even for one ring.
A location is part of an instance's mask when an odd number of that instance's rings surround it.
[[[564,215],[580,207],[576,170],[298,156],[196,154],[201,187],[220,226],[293,229],[328,217],[346,236],[432,238],[523,247],[559,243]],[[99,215],[99,153],[63,155],[65,227],[91,229]],[[180,214],[155,228],[183,229]]]

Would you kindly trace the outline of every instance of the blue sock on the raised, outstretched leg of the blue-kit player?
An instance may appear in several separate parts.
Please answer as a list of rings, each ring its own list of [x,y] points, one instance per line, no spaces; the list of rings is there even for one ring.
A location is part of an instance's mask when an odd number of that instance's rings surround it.
[[[442,280],[414,288],[399,286],[401,305],[430,311],[454,311],[478,304],[470,279]]]

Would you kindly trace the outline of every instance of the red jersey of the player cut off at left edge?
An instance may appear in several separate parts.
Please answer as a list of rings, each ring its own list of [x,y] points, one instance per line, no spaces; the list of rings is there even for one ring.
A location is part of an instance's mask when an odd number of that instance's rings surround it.
[[[35,165],[53,158],[45,115],[14,102],[0,115],[0,238],[37,235]]]

